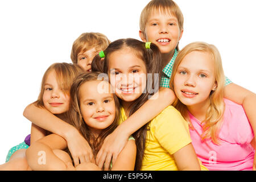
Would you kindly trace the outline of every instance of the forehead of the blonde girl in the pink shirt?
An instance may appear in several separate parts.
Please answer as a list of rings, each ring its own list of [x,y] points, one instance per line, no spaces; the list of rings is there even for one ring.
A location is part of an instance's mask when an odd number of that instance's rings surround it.
[[[186,68],[188,70],[205,70],[209,72],[214,71],[214,61],[210,53],[205,51],[192,51],[188,53],[181,63],[179,67]]]

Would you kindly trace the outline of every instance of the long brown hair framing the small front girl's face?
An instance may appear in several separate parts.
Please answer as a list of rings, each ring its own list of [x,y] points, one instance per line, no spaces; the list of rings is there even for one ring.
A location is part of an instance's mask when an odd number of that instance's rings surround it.
[[[117,96],[114,96],[115,102],[115,119],[112,125],[107,127],[106,129],[102,130],[100,135],[97,138],[90,132],[88,126],[86,125],[84,119],[82,118],[81,110],[80,110],[80,96],[79,96],[79,89],[82,84],[88,81],[95,81],[99,80],[98,77],[100,72],[91,72],[91,73],[82,73],[79,75],[71,86],[71,104],[69,108],[69,119],[73,126],[82,134],[82,136],[88,141],[90,147],[93,150],[93,154],[96,157],[98,151],[101,148],[104,139],[114,131],[114,129],[118,126],[119,121],[119,101]]]

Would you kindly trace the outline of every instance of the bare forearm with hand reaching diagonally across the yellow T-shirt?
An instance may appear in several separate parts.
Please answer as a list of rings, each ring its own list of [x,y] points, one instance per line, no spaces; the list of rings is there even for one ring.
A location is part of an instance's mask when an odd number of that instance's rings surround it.
[[[152,97],[155,98],[148,100],[125,122],[119,125],[112,134],[106,137],[96,157],[96,163],[100,168],[102,168],[104,162],[109,164],[112,157],[112,161],[115,163],[129,136],[155,118],[162,110],[171,105],[176,98],[174,92],[169,88],[160,88],[159,93],[155,93]]]

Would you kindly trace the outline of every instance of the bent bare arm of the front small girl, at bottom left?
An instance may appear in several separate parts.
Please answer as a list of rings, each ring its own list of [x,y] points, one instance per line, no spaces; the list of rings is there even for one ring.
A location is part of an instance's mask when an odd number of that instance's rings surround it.
[[[26,158],[32,170],[65,170],[67,165],[53,152],[54,149],[64,150],[67,142],[56,134],[47,135],[28,147]]]

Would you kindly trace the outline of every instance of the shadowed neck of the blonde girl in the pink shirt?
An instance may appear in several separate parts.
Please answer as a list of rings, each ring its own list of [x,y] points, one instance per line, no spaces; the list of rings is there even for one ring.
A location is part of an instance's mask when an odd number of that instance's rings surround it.
[[[199,121],[204,121],[207,115],[207,110],[210,106],[210,100],[196,105],[187,106],[189,112]]]

